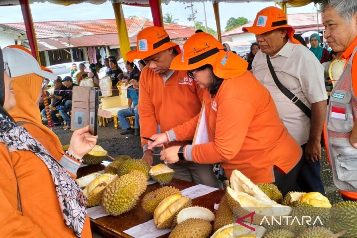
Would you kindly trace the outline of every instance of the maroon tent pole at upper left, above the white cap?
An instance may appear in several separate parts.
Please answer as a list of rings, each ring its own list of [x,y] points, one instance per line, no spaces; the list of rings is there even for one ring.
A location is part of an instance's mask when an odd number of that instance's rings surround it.
[[[41,64],[39,50],[37,48],[36,33],[34,28],[34,22],[32,20],[31,9],[29,0],[20,0],[20,6],[22,11],[22,17],[24,18],[26,35],[29,39],[32,55]]]

